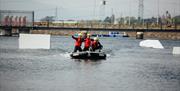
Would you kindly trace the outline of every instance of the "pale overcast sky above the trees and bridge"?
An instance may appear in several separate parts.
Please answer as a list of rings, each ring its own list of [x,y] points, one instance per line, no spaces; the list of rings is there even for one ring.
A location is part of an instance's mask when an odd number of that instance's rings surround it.
[[[102,9],[102,0],[0,0],[1,10],[33,10],[35,19],[45,16],[55,16],[58,7],[58,19],[94,19],[102,15],[116,17],[138,16],[139,0],[106,0],[107,5]],[[144,0],[144,17],[158,15],[158,0]],[[180,0],[159,0],[159,14],[169,11],[172,16],[180,15]],[[100,12],[101,11],[101,12]]]

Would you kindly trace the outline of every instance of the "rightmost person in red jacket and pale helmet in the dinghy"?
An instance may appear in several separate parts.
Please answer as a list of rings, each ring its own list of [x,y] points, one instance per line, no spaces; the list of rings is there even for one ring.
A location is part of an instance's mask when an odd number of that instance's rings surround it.
[[[92,51],[96,51],[99,49],[99,51],[101,51],[101,49],[103,48],[103,46],[101,45],[101,43],[99,42],[98,37],[95,37],[92,45],[91,45]]]

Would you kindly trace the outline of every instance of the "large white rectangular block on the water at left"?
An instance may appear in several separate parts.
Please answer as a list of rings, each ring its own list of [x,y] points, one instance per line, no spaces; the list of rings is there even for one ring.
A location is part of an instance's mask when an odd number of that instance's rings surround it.
[[[19,49],[50,49],[50,35],[20,34]]]

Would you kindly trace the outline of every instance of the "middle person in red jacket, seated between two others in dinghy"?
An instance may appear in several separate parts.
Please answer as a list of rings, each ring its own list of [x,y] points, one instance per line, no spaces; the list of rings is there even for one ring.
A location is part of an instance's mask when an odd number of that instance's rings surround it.
[[[87,37],[84,39],[83,51],[89,51],[89,48],[91,47],[91,41],[93,41],[93,39],[91,39],[91,35],[87,34]]]

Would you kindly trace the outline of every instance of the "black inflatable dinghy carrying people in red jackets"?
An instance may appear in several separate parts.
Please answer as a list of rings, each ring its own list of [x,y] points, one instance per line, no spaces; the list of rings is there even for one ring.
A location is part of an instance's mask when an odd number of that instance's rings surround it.
[[[106,54],[104,52],[73,52],[70,56],[74,59],[106,59]]]

